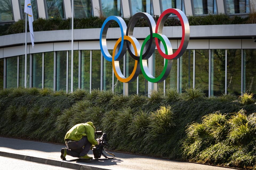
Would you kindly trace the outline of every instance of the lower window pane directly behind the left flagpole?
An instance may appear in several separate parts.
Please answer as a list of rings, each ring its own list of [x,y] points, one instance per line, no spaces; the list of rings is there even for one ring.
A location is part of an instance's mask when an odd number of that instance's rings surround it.
[[[26,76],[26,86],[29,88],[29,69],[30,67],[30,54],[27,54],[27,76]],[[24,87],[25,85],[25,55],[19,56],[19,86]]]

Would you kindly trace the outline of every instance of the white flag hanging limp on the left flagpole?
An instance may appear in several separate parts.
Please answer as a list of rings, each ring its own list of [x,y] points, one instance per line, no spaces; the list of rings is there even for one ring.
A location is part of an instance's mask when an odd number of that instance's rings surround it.
[[[32,48],[34,48],[34,31],[33,31],[33,13],[32,13],[32,6],[30,0],[25,0],[25,7],[24,12],[27,13],[29,16],[29,31],[30,31],[30,38],[32,43]]]

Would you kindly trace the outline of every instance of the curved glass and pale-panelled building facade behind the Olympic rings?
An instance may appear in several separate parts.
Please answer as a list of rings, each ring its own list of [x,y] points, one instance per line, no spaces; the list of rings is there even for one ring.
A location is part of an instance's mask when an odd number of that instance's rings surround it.
[[[0,23],[13,23],[23,19],[23,0],[0,0]],[[34,19],[71,17],[70,0],[31,0]],[[136,12],[160,15],[167,8],[178,8],[187,16],[227,14],[247,16],[255,12],[255,0],[74,0],[74,16],[130,17]],[[170,16],[175,17],[175,16]],[[181,27],[164,27],[173,51],[181,41]],[[74,30],[74,58],[71,70],[71,31],[34,32],[35,46],[27,42],[27,68],[25,68],[25,33],[0,36],[0,88],[49,87],[70,92],[71,74],[73,89],[113,90],[123,93],[112,63],[102,57],[99,46],[100,28]],[[29,35],[29,33],[28,33]],[[142,44],[149,35],[148,27],[135,27],[133,35]],[[108,49],[113,49],[121,36],[119,28],[109,28]],[[29,37],[29,36],[28,36]],[[190,41],[186,52],[173,60],[171,72],[158,88],[202,88],[206,95],[243,92],[256,93],[256,24],[190,26]],[[157,76],[162,72],[164,58],[157,50],[148,60],[149,69]],[[121,62],[124,75],[131,73],[134,60],[127,52]],[[26,75],[25,75],[26,69]],[[129,83],[129,94],[148,94],[153,83],[142,73]]]

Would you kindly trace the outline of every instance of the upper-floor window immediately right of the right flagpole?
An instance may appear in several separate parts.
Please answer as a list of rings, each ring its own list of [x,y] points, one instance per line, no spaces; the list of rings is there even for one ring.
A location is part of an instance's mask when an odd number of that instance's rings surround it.
[[[74,17],[89,18],[93,16],[93,6],[88,0],[74,0]]]

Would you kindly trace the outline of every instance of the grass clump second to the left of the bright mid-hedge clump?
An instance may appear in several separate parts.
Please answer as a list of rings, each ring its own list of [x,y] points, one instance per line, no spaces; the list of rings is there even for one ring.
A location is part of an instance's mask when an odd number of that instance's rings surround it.
[[[129,107],[119,112],[115,119],[114,134],[127,134],[127,127],[131,124],[132,118],[133,110]]]

